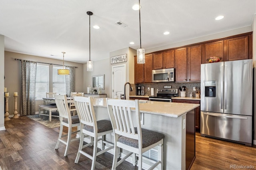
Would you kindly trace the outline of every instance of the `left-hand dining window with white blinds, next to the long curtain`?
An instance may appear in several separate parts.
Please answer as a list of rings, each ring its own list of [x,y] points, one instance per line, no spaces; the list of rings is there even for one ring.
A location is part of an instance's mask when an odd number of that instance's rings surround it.
[[[49,65],[36,64],[36,100],[46,97],[49,92]]]

